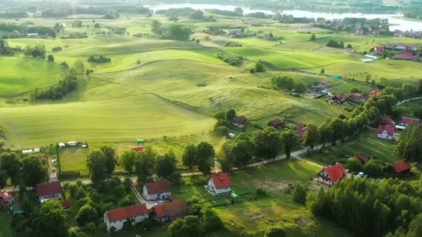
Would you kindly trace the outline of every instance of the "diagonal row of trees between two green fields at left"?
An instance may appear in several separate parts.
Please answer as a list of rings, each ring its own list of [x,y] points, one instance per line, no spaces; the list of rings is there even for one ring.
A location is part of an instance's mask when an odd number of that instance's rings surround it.
[[[53,85],[48,89],[35,88],[32,94],[33,99],[52,99],[60,100],[63,96],[69,94],[78,88],[78,76],[76,71],[71,69],[65,78],[59,80],[57,85]]]

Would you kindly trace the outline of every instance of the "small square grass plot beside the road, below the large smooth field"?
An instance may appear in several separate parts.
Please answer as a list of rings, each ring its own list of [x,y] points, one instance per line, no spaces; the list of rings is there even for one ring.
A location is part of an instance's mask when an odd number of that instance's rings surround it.
[[[65,148],[60,152],[60,168],[64,171],[86,171],[87,148]]]

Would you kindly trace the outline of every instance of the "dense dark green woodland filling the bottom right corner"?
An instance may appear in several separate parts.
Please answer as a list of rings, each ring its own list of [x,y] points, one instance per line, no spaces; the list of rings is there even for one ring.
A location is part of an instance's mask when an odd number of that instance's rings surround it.
[[[355,236],[421,236],[422,182],[343,179],[328,191],[307,195],[314,214],[337,222]]]

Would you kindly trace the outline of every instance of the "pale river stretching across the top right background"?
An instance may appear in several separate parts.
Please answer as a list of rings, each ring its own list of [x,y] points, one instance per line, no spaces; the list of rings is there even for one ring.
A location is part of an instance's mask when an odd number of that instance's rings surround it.
[[[161,5],[152,5],[145,6],[151,8],[152,10],[167,10],[170,8],[193,8],[195,10],[207,10],[207,9],[219,9],[219,10],[234,10],[237,6],[231,5],[218,5],[218,4],[161,4]],[[264,12],[265,14],[272,15],[275,12],[271,10],[258,10],[251,8],[243,8],[244,13],[248,14],[251,12]],[[305,10],[285,10],[281,14],[293,15],[294,17],[323,17],[325,19],[342,19],[345,17],[364,17],[366,19],[374,18],[387,18],[389,21],[390,30],[422,30],[422,21],[412,21],[409,19],[403,19],[403,15],[394,15],[394,14],[364,14],[364,13],[329,13],[329,12],[309,12]]]

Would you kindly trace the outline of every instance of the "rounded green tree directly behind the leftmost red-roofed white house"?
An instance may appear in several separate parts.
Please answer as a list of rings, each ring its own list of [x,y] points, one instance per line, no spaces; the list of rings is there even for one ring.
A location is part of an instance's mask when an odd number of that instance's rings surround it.
[[[22,161],[22,181],[26,186],[35,187],[49,179],[49,172],[44,159],[29,155]]]

